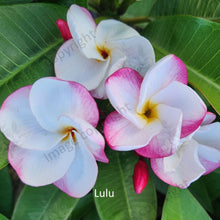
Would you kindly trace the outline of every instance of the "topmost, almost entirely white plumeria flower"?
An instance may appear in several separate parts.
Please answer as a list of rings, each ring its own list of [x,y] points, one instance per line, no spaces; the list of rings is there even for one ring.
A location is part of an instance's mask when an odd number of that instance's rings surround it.
[[[126,24],[109,19],[97,26],[89,11],[77,5],[68,10],[67,23],[73,39],[56,54],[56,76],[81,83],[96,98],[106,98],[105,80],[119,68],[144,75],[155,62],[150,42]]]

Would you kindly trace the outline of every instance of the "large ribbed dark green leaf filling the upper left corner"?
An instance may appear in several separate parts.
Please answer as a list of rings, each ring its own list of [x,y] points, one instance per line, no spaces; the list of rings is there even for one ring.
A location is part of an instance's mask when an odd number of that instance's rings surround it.
[[[0,105],[16,89],[54,74],[63,39],[56,27],[66,8],[53,4],[0,7]],[[7,164],[7,140],[0,135],[0,168]]]

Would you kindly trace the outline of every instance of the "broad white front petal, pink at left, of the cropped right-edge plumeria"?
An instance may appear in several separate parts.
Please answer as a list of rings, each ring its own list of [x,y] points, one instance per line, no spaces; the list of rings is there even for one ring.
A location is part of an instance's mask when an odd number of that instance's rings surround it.
[[[196,141],[185,142],[175,154],[151,159],[151,167],[164,182],[172,186],[186,188],[205,172],[199,161],[197,148]]]

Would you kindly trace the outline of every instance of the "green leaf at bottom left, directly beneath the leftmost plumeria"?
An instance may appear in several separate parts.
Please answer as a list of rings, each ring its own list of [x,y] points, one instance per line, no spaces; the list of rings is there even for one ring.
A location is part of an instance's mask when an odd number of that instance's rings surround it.
[[[78,201],[53,185],[38,188],[25,186],[16,203],[12,220],[65,220]]]

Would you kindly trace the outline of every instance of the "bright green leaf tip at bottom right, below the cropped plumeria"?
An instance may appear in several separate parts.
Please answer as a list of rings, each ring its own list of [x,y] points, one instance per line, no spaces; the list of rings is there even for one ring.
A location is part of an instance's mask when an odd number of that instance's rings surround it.
[[[187,189],[170,186],[165,199],[162,220],[207,220],[211,218]]]

